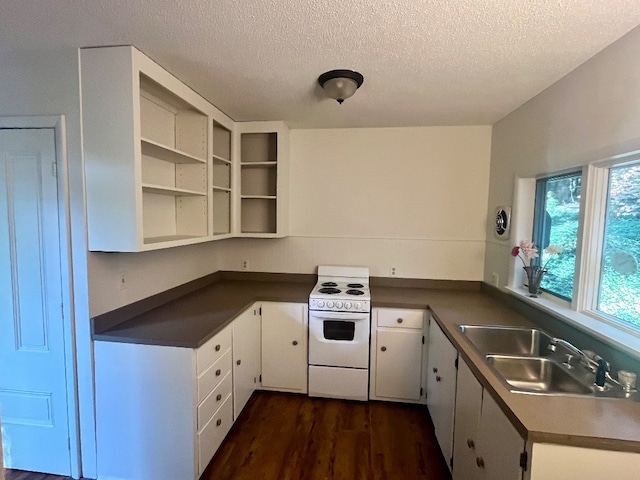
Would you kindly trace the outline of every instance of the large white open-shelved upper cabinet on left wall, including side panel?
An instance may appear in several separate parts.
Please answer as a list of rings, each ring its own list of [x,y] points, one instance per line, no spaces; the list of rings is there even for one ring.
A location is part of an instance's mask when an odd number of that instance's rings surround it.
[[[233,122],[134,47],[81,50],[89,249],[231,233]]]

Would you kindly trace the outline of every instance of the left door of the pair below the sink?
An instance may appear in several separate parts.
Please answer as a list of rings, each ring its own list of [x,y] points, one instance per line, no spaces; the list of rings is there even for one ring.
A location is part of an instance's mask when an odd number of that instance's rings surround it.
[[[453,479],[481,478],[481,471],[476,465],[476,457],[479,445],[478,424],[482,411],[482,386],[464,361],[458,363],[455,411]]]

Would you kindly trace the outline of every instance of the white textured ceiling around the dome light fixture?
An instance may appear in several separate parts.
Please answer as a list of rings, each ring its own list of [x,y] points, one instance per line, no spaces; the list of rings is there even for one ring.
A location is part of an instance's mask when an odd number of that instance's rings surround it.
[[[2,49],[133,44],[294,128],[492,124],[639,24],[638,0],[0,0]],[[335,68],[365,77],[343,105]]]

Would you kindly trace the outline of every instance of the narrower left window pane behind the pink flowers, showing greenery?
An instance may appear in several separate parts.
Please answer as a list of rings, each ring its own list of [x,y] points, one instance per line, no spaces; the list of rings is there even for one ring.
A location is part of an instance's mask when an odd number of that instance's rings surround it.
[[[536,182],[533,242],[541,257],[534,263],[546,264],[548,270],[542,290],[565,300],[573,296],[581,183],[582,172]],[[560,246],[562,253],[549,258],[544,253],[549,245]]]

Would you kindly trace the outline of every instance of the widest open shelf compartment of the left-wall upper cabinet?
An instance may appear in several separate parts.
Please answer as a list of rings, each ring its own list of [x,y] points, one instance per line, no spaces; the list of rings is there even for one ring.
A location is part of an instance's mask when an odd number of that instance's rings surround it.
[[[142,73],[139,82],[143,243],[206,237],[208,117]]]

